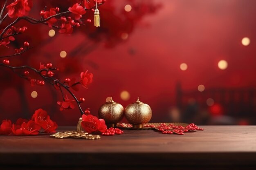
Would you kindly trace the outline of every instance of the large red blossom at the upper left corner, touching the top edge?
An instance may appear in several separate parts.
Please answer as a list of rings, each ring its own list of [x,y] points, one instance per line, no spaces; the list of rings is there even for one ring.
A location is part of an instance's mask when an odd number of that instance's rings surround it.
[[[6,8],[10,18],[28,15],[33,6],[32,0],[15,0]]]

